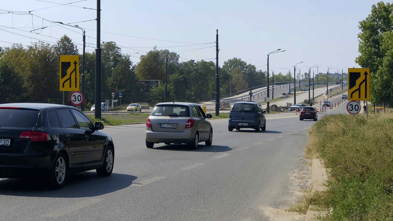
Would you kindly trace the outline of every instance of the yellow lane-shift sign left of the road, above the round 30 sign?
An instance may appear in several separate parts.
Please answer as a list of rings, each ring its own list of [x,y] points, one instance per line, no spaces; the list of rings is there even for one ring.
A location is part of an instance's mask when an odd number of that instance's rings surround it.
[[[79,91],[78,55],[60,55],[60,91]]]

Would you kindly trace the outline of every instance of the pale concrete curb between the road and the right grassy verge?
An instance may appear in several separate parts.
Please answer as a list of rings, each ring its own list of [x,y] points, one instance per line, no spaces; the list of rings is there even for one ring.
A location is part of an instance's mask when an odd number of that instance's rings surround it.
[[[312,189],[311,194],[316,191],[325,190],[324,182],[329,179],[327,175],[327,169],[322,166],[323,161],[321,159],[312,159]],[[313,220],[315,217],[324,216],[327,214],[327,211],[315,211],[311,210],[311,208],[315,207],[314,205],[310,205],[306,214],[306,221]]]

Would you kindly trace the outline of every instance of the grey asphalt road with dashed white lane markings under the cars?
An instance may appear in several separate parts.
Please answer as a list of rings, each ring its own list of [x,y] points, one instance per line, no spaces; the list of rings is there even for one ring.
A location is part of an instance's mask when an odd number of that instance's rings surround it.
[[[328,114],[344,110],[342,105]],[[0,179],[0,220],[283,220],[264,208],[290,204],[291,174],[306,164],[314,121],[299,121],[295,113],[266,119],[267,129],[259,133],[228,132],[227,119],[211,120],[213,146],[201,143],[197,150],[161,144],[147,149],[144,124],[107,127],[103,131],[115,144],[110,177],[84,172],[69,177],[61,190],[48,190],[39,180]]]

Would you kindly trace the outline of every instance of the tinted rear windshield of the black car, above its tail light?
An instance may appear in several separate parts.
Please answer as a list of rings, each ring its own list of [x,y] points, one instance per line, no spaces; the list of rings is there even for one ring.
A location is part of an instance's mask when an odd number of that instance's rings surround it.
[[[33,128],[37,124],[38,114],[39,110],[0,109],[0,128]]]

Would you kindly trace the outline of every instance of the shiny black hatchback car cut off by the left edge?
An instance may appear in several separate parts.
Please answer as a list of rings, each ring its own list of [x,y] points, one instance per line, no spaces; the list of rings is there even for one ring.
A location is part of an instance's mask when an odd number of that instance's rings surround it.
[[[0,116],[0,178],[35,175],[61,188],[70,173],[112,174],[112,138],[77,108],[0,104]]]

